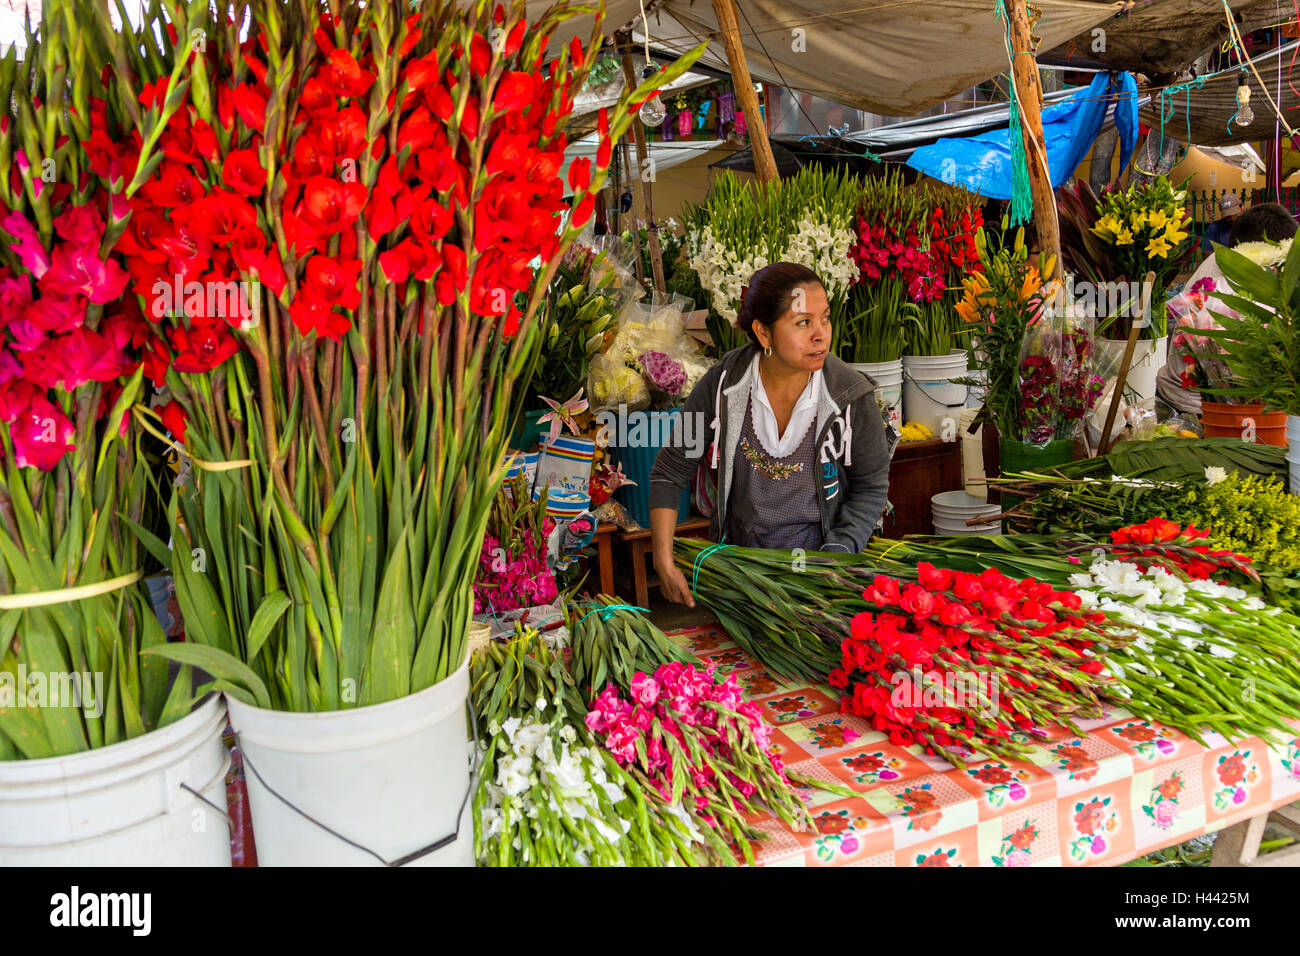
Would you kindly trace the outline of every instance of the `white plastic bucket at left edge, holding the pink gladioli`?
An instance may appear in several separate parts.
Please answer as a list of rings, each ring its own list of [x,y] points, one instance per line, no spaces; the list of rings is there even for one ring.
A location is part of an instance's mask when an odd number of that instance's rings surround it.
[[[0,761],[0,866],[229,866],[226,708],[66,757]],[[212,801],[205,805],[185,790]]]

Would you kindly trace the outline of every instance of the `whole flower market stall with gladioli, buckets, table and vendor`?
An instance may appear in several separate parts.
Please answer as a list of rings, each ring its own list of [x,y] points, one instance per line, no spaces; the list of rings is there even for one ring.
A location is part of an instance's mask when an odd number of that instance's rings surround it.
[[[23,29],[0,864],[1118,865],[1294,816],[1300,250],[1193,278],[1178,183],[1053,193],[1106,108],[1049,151],[1035,56],[1121,5],[649,7]],[[779,165],[753,82],[1004,69],[1005,211]],[[656,206],[737,130],[757,178]]]

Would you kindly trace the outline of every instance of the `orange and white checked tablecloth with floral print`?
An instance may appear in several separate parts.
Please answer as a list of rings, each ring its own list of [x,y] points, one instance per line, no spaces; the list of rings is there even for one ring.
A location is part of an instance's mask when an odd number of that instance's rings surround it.
[[[768,866],[1091,866],[1122,864],[1300,800],[1300,728],[1208,747],[1113,709],[1049,728],[1028,760],[959,770],[840,714],[828,687],[781,683],[718,626],[675,639],[734,672],[776,727],[790,770],[859,791],[803,791],[816,832],[757,818]]]

